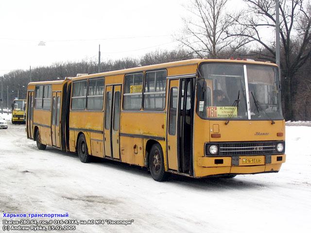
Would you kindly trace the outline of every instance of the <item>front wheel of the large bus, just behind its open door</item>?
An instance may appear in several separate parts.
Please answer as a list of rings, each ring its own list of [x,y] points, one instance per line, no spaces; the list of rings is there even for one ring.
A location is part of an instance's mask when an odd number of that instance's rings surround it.
[[[149,169],[155,181],[166,181],[168,173],[165,172],[162,148],[159,144],[154,144],[149,153]]]

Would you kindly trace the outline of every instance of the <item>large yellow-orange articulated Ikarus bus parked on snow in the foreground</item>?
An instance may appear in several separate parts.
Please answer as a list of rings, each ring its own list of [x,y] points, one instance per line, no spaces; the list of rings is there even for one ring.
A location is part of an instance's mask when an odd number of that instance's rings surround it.
[[[46,145],[194,178],[279,171],[277,66],[192,59],[29,83],[27,136]]]

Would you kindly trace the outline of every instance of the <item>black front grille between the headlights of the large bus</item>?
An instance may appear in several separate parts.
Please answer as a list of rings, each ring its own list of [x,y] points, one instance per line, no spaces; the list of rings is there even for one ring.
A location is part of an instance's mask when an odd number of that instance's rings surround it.
[[[276,154],[276,142],[220,143],[219,155]]]

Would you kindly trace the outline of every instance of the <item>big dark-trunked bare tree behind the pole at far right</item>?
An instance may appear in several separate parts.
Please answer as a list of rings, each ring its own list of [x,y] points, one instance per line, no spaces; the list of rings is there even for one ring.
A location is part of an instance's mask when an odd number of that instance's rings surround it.
[[[227,32],[229,37],[245,38],[246,45],[259,45],[259,58],[275,61],[275,43],[264,38],[267,28],[276,26],[274,0],[244,0],[248,11],[236,20],[237,26]],[[293,100],[296,90],[295,73],[311,57],[311,6],[307,0],[280,0],[280,39],[282,45],[282,102],[285,118],[294,120]],[[271,31],[273,32],[273,31]],[[261,51],[265,52],[261,52]]]

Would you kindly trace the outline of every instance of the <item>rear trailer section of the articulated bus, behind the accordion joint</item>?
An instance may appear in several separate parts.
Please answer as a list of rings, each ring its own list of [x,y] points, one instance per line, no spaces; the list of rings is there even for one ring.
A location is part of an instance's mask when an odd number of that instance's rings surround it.
[[[44,150],[46,146],[65,151],[67,149],[68,83],[69,79],[28,84],[27,137],[35,140],[40,150]]]

